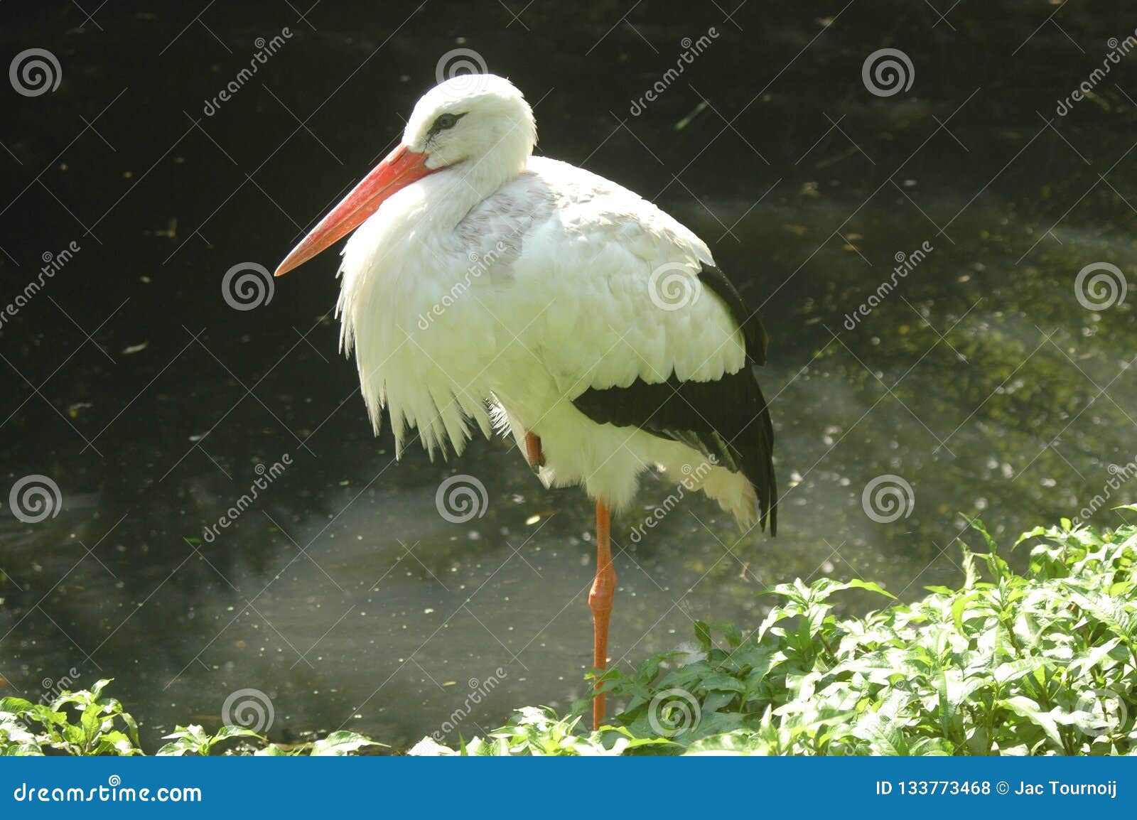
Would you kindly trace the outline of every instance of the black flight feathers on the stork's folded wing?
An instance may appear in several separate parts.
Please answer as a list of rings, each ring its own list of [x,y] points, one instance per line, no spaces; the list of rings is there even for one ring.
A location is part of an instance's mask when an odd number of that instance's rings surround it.
[[[770,408],[750,362],[765,364],[769,337],[756,312],[747,308],[735,285],[717,268],[704,265],[703,283],[722,299],[742,329],[747,365],[714,381],[647,383],[589,389],[573,400],[598,424],[637,426],[659,438],[681,441],[728,470],[741,472],[758,497],[758,520],[778,532],[774,429]]]

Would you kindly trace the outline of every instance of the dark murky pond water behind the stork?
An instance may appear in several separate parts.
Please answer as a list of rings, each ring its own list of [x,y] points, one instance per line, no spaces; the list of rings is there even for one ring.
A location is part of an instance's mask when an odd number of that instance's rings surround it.
[[[5,26],[9,51],[57,53],[64,82],[15,99],[2,126],[0,300],[44,254],[80,250],[0,326],[0,694],[115,678],[151,747],[176,722],[216,726],[243,689],[271,701],[276,739],[343,727],[396,747],[584,694],[583,494],[545,490],[501,439],[396,463],[338,354],[331,256],[254,310],[219,292],[371,167],[453,48],[537,103],[541,152],[706,238],[772,339],[778,538],[686,497],[633,541],[675,492],[646,477],[642,510],[614,528],[616,662],[690,641],[694,619],[753,629],[769,606],[755,594],[798,577],[912,599],[961,579],[962,515],[1010,548],[1089,506],[1137,457],[1137,297],[1076,287],[1094,263],[1131,285],[1137,116],[1121,68],[1068,115],[1055,101],[1123,28],[1071,13],[1028,40],[1045,9],[994,2],[951,26],[910,6],[887,34],[879,9],[839,5],[747,7],[735,25],[713,5],[622,18],[538,3],[517,22],[341,3],[308,25],[287,5],[84,22],[59,3]],[[206,116],[283,26],[294,36]],[[709,26],[705,53],[632,116]],[[862,61],[885,45],[911,55],[910,91],[866,92]],[[59,487],[57,516],[11,514],[28,474]],[[484,486],[482,516],[439,515],[455,474]],[[1137,482],[1111,494],[1094,523],[1119,523],[1109,507]]]

